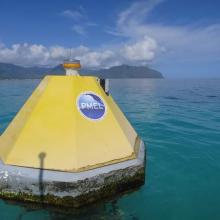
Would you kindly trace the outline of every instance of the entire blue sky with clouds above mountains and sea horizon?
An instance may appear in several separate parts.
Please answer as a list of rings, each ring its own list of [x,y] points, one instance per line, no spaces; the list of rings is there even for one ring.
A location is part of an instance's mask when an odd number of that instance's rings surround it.
[[[0,0],[0,62],[220,77],[220,1]]]

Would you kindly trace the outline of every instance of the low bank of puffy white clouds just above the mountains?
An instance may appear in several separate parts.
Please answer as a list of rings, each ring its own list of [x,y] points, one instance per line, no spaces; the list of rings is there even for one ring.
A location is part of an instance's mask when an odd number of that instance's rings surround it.
[[[144,37],[142,41],[97,50],[83,45],[65,48],[27,43],[6,47],[2,44],[0,45],[0,62],[24,66],[57,65],[71,54],[72,57],[81,60],[83,67],[106,68],[123,63],[146,64],[154,58],[156,50],[156,42],[148,37]]]

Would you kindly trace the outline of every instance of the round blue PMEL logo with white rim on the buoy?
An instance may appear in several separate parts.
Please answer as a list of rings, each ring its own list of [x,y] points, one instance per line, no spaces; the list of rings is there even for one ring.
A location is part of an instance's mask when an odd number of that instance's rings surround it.
[[[77,99],[77,107],[80,113],[88,119],[103,119],[106,113],[106,106],[100,96],[93,92],[84,92]]]

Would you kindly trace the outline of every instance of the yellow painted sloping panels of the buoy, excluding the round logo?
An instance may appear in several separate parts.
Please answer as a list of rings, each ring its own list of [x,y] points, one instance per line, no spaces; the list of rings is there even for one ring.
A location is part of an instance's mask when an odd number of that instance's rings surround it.
[[[80,93],[91,91],[107,105],[102,120],[77,109]],[[0,137],[6,164],[79,172],[135,158],[137,134],[95,77],[47,76]]]

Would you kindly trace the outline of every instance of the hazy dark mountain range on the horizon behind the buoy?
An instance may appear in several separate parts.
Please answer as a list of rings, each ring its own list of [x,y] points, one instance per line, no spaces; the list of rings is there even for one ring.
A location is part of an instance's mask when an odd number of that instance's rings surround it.
[[[22,67],[0,63],[0,79],[37,79],[45,75],[64,75],[62,65],[48,67]],[[94,75],[100,78],[163,78],[163,75],[146,66],[114,66],[109,69],[81,69],[81,75]]]

